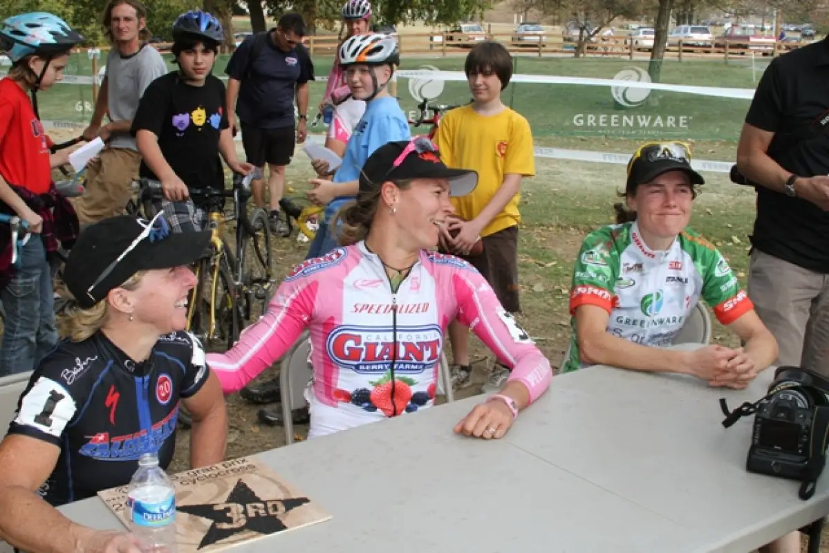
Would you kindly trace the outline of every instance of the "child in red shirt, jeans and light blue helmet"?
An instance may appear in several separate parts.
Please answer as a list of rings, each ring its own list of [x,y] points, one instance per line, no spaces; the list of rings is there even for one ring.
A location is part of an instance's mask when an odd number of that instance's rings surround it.
[[[41,233],[51,221],[44,202],[52,191],[51,169],[67,163],[68,152],[50,154],[27,92],[36,102],[37,90],[61,80],[70,49],[83,40],[51,13],[24,13],[0,23],[0,49],[12,61],[0,80],[0,211],[17,214],[32,231],[19,266],[3,275],[0,376],[32,371],[57,342],[51,268]],[[8,250],[9,242],[8,237],[0,241],[0,250]]]

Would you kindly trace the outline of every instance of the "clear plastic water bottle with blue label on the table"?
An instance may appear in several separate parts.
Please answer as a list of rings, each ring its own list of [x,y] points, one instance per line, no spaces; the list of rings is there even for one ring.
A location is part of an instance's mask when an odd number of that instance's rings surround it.
[[[142,454],[127,495],[129,529],[142,541],[144,553],[176,548],[176,488],[162,468],[158,454]]]

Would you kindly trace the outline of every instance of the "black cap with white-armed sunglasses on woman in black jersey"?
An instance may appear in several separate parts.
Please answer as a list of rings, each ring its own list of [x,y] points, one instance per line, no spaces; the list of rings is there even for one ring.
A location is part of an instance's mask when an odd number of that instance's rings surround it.
[[[173,233],[161,213],[153,221],[110,217],[80,233],[63,280],[80,307],[91,308],[138,271],[193,263],[204,255],[210,240],[210,230]]]

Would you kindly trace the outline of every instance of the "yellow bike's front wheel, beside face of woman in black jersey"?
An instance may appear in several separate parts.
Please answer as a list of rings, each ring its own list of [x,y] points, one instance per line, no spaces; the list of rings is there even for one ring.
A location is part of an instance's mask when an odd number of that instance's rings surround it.
[[[199,282],[193,298],[196,302],[191,320],[191,331],[196,334],[208,350],[218,347],[230,349],[239,340],[239,303],[236,287],[230,275],[230,267],[225,258],[211,257],[201,260]],[[214,269],[219,264],[214,282]],[[215,292],[214,292],[215,290]],[[212,328],[211,328],[212,315]]]

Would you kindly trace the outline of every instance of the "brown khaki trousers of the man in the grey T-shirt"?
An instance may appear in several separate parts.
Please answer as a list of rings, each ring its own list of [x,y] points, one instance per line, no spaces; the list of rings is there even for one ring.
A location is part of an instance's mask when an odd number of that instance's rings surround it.
[[[81,225],[124,215],[140,164],[140,154],[129,148],[101,151],[99,158],[86,169],[84,195],[71,200]]]

